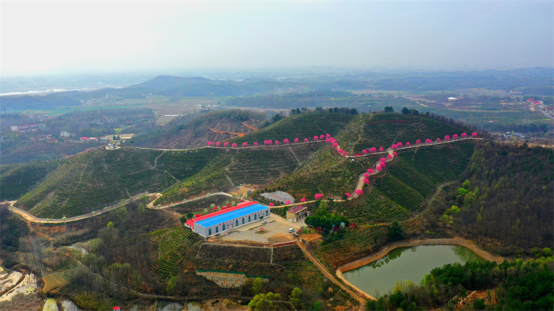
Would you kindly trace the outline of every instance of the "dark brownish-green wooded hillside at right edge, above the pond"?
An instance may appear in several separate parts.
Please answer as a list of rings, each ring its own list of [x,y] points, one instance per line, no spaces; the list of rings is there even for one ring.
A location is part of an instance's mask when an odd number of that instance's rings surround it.
[[[491,142],[476,146],[463,187],[451,189],[436,214],[481,243],[502,252],[554,243],[554,153]]]

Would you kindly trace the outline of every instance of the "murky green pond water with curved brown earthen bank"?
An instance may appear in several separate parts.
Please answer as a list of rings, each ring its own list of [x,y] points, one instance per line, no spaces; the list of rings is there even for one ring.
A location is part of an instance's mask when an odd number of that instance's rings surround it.
[[[344,278],[371,296],[382,296],[394,289],[397,281],[419,284],[425,274],[447,263],[482,261],[477,254],[457,245],[420,245],[393,249],[383,258],[355,270]]]

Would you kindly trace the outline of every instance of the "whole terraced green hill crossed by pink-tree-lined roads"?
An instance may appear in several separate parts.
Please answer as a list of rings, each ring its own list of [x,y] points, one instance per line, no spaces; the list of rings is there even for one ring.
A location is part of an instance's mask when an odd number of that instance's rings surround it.
[[[218,122],[220,114],[206,115],[202,120]],[[223,117],[241,116],[224,113]],[[316,193],[343,196],[352,192],[359,173],[374,166],[376,156],[347,159],[339,157],[325,142],[284,146],[283,139],[312,141],[314,135],[330,134],[339,140],[341,147],[356,152],[375,144],[388,146],[400,138],[404,142],[415,141],[463,131],[466,129],[411,115],[303,113],[230,141],[239,145],[249,142],[249,146],[257,141],[258,148],[100,150],[63,160],[55,168],[48,166],[50,171],[43,173],[50,173],[37,174],[35,179],[19,169],[21,173],[13,180],[23,181],[10,195],[27,191],[16,206],[44,218],[84,214],[143,191],[162,192],[155,204],[163,205],[197,194],[225,191],[242,183],[269,185],[268,190],[286,189],[297,199],[312,198]],[[280,140],[281,146],[263,146],[264,140]],[[386,175],[372,180],[372,185],[364,190],[375,191],[370,196],[378,200],[348,203],[343,207],[345,214],[364,222],[409,216],[434,192],[438,182],[456,179],[465,169],[472,143],[454,142],[399,154],[397,163],[387,166]],[[2,176],[8,176],[10,171],[15,169],[6,170]],[[354,213],[355,208],[362,213]]]

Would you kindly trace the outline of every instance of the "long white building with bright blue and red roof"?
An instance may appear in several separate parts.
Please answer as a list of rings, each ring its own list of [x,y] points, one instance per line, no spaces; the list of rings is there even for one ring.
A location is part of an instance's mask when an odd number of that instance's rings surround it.
[[[185,226],[208,238],[267,217],[269,207],[258,202],[242,202],[229,209],[187,220]]]

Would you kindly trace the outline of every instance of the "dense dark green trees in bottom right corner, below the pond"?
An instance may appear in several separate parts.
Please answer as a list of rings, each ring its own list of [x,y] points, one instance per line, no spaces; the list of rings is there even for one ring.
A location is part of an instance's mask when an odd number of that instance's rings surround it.
[[[421,285],[398,283],[395,290],[368,301],[367,310],[431,310],[446,305],[454,310],[467,291],[487,291],[470,310],[552,310],[552,257],[537,261],[491,261],[444,265],[431,270]]]

